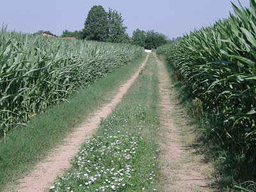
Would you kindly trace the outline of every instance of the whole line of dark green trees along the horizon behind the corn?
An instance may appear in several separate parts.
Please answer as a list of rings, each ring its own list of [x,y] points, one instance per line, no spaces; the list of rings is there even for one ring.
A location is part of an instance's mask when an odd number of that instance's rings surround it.
[[[108,12],[99,5],[94,5],[88,12],[81,31],[68,31],[65,29],[61,37],[74,36],[77,39],[95,40],[99,42],[114,42],[134,44],[145,47],[145,49],[156,49],[157,47],[170,42],[168,36],[157,33],[154,30],[143,31],[136,29],[130,37],[126,33],[127,27],[124,26],[124,19],[121,13],[109,8]],[[47,33],[52,36],[50,31],[38,31],[37,33]]]

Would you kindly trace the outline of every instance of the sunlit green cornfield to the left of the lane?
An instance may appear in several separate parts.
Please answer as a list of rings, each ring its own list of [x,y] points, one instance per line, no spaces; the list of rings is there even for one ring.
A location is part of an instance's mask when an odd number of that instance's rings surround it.
[[[141,47],[0,31],[0,135],[125,65]]]

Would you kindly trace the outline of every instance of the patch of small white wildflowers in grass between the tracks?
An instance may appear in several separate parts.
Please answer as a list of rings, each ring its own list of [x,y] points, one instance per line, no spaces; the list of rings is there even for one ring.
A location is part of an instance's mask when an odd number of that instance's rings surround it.
[[[116,109],[113,115],[101,122],[99,132],[83,144],[72,159],[72,168],[59,177],[50,190],[156,190],[156,157],[148,159],[147,151],[150,147],[157,155],[159,148],[143,138],[143,129],[148,127],[147,111],[141,105]],[[150,129],[152,127],[154,125],[150,125]],[[143,177],[141,169],[146,173]]]

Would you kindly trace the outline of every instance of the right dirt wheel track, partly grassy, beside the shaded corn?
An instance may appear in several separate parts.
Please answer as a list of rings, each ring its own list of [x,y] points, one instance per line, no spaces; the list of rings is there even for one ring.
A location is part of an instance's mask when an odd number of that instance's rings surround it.
[[[196,170],[198,164],[184,163],[189,150],[180,145],[177,127],[173,124],[172,111],[175,104],[171,102],[173,84],[163,63],[155,58],[159,68],[159,95],[161,98],[161,155],[162,177],[164,191],[209,191],[202,173]],[[176,100],[177,102],[177,100]]]

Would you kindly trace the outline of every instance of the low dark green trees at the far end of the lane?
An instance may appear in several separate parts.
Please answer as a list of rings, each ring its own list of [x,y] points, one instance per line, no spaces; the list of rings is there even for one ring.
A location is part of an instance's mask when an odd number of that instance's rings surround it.
[[[151,31],[143,31],[136,29],[132,33],[132,43],[139,45],[145,49],[156,49],[157,47],[164,45],[168,42],[167,36],[163,33]]]

